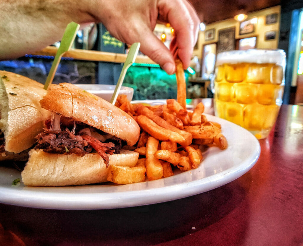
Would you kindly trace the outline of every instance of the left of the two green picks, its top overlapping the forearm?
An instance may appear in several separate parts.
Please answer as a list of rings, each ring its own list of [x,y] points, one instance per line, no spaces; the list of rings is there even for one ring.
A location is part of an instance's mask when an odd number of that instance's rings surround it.
[[[64,52],[68,51],[72,47],[73,41],[76,37],[79,27],[80,27],[80,25],[77,24],[76,22],[72,21],[72,22],[68,23],[68,25],[64,31],[58,51],[55,55],[52,67],[46,78],[45,85],[44,85],[45,90],[47,90],[48,85],[51,84],[54,79],[54,76],[55,76],[56,70],[58,68],[58,65],[60,63],[62,55],[64,54]]]

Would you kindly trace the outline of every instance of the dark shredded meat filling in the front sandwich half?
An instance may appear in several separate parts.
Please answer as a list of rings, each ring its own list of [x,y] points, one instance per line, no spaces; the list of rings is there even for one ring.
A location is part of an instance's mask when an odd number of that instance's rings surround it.
[[[120,139],[113,136],[105,138],[106,134],[100,130],[70,118],[62,116],[57,119],[60,120],[60,130],[52,129],[51,120],[46,120],[47,128],[36,136],[35,149],[43,149],[47,153],[67,155],[73,153],[79,156],[97,152],[104,159],[106,166],[109,162],[108,154],[120,153],[122,146]]]

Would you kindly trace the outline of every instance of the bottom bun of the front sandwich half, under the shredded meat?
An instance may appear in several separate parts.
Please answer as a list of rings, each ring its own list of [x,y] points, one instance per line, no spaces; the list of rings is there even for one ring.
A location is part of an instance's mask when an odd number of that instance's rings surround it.
[[[138,157],[137,152],[121,150],[109,155],[109,166],[134,167]],[[24,185],[30,186],[86,185],[106,182],[108,170],[98,153],[60,155],[31,149],[21,176]]]

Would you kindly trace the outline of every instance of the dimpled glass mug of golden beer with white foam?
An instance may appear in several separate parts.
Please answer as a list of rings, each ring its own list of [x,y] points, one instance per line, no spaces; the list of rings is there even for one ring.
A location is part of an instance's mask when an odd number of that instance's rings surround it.
[[[219,53],[212,79],[215,115],[266,138],[282,104],[285,65],[283,50]]]

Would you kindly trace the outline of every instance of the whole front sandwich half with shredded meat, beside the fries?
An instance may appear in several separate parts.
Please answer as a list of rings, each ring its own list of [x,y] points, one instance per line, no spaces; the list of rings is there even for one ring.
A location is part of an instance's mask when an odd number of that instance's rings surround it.
[[[133,167],[140,127],[127,113],[73,84],[51,84],[40,101],[51,114],[22,171],[31,186],[106,182],[108,166]]]

